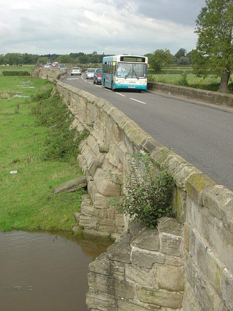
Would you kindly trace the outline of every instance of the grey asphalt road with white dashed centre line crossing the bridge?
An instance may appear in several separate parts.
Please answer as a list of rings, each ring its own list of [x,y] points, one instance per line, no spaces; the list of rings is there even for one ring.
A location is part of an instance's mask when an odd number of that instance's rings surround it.
[[[68,74],[62,81],[106,99],[154,139],[233,190],[233,113],[149,92],[111,91],[85,74]]]

